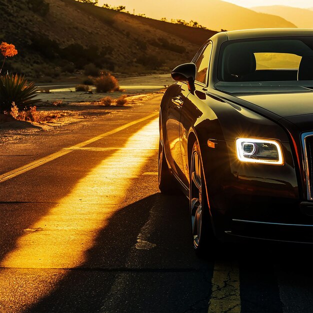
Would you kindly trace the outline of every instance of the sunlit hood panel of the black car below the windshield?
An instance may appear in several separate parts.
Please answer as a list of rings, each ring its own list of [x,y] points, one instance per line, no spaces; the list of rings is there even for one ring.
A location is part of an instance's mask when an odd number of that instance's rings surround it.
[[[313,113],[313,91],[233,95],[286,119],[291,116]]]

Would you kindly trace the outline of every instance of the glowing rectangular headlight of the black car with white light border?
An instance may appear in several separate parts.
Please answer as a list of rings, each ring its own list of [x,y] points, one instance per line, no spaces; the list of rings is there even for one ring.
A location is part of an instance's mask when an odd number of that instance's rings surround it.
[[[237,138],[236,150],[237,157],[242,162],[283,164],[281,147],[274,140]]]

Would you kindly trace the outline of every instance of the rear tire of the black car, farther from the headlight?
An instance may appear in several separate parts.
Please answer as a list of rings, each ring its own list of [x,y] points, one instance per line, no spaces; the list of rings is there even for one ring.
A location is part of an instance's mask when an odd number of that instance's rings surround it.
[[[161,193],[172,193],[176,191],[176,182],[172,176],[164,154],[161,141],[158,143],[158,166],[157,166],[158,188]]]

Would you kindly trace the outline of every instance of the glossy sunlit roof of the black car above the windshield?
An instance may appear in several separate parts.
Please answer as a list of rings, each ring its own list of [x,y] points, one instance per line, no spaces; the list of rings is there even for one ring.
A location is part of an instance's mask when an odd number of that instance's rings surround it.
[[[211,37],[224,37],[226,40],[264,38],[264,37],[290,37],[290,36],[312,36],[313,28],[256,28],[221,31]]]

